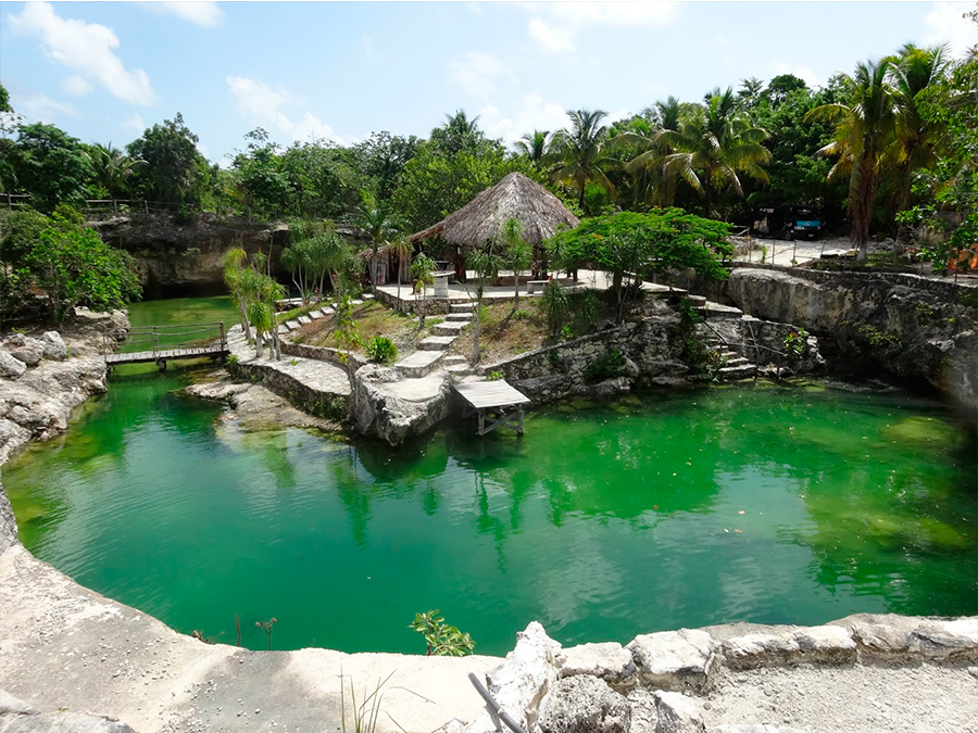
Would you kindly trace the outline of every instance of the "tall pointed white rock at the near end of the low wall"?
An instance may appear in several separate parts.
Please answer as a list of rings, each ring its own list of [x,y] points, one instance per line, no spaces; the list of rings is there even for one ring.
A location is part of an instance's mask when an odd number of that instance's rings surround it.
[[[561,645],[547,635],[539,622],[532,621],[516,634],[516,646],[503,664],[487,674],[489,693],[517,723],[529,730],[543,696],[560,675],[562,661]],[[496,723],[485,710],[466,729],[467,733],[496,730]]]

